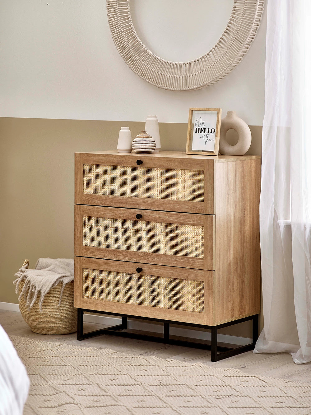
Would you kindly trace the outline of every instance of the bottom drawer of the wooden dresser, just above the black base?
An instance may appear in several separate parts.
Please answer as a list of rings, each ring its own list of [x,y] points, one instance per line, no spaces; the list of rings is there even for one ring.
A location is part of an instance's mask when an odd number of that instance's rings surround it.
[[[75,257],[75,307],[211,325],[214,271]]]

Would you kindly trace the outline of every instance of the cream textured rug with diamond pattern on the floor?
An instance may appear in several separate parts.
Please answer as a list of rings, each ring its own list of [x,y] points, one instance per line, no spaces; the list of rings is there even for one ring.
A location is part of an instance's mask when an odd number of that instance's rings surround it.
[[[31,386],[24,415],[309,415],[311,386],[199,363],[10,337]]]

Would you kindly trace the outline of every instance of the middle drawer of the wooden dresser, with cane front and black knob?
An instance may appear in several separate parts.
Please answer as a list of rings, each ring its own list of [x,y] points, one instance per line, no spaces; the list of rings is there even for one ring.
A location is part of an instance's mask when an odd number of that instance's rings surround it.
[[[213,271],[214,218],[75,205],[75,255]]]

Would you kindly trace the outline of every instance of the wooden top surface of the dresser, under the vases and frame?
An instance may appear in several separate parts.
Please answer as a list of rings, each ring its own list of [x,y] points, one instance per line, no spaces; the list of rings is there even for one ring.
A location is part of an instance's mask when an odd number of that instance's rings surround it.
[[[254,160],[260,159],[260,156],[251,156],[246,154],[245,156],[209,156],[206,154],[186,154],[185,151],[159,151],[158,153],[151,154],[137,154],[137,153],[119,153],[117,150],[110,151],[84,151],[82,154],[105,154],[113,156],[124,156],[124,157],[173,157],[181,159],[211,159],[215,160],[216,163],[224,163],[226,161],[240,161],[240,160]]]

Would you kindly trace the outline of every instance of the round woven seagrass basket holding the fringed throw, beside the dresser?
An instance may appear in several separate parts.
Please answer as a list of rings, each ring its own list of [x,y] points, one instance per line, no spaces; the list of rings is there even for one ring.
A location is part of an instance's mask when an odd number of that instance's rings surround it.
[[[28,268],[28,261],[24,262]],[[19,310],[30,329],[39,334],[68,334],[77,331],[77,309],[73,306],[74,282],[65,285],[61,304],[58,305],[62,283],[46,293],[42,303],[42,312],[39,310],[39,295],[30,310],[26,305],[24,295],[19,300]],[[24,287],[24,281],[19,284],[19,294]]]

